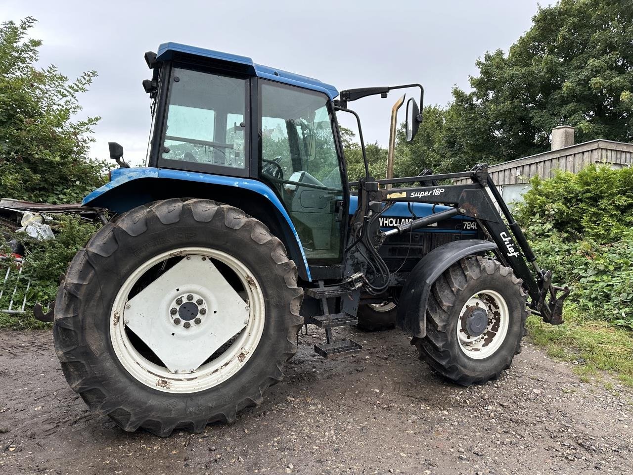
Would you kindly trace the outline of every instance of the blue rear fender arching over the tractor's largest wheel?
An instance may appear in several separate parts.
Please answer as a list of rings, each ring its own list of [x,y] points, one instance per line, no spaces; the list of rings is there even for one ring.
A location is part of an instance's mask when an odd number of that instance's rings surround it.
[[[206,198],[236,206],[264,222],[286,246],[299,276],[312,280],[299,234],[277,194],[264,182],[153,167],[115,168],[110,178],[86,196],[82,205],[124,213],[151,201]]]

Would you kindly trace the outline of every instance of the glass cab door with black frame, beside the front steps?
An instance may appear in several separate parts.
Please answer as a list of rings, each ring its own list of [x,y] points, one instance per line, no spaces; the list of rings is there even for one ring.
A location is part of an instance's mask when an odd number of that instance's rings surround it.
[[[260,80],[260,178],[285,205],[312,267],[340,265],[344,174],[329,98]]]

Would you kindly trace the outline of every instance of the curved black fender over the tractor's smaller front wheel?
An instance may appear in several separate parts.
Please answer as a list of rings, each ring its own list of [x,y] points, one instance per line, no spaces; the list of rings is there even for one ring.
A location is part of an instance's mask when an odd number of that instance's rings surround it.
[[[461,258],[496,248],[497,244],[490,241],[464,239],[430,251],[413,267],[404,283],[398,300],[396,326],[406,334],[423,338],[427,334],[427,302],[433,282]]]

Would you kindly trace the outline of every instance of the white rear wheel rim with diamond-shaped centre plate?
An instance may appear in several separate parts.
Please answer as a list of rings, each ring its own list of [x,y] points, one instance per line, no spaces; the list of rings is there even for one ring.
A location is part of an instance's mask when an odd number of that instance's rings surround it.
[[[128,299],[147,270],[180,256],[179,262]],[[241,282],[242,296],[213,260],[234,272]],[[177,304],[179,298],[182,303]],[[188,303],[196,304],[199,323],[194,318],[185,320],[193,314],[183,312]],[[172,315],[172,308],[177,308],[177,314]],[[181,314],[184,317],[180,318]],[[186,322],[189,327],[185,327]],[[226,381],[244,367],[260,342],[264,322],[260,283],[244,263],[223,251],[187,247],[147,260],[126,279],[112,307],[110,338],[118,360],[141,383],[167,393],[195,393]],[[164,365],[141,355],[129,331]],[[226,345],[222,353],[206,362]]]

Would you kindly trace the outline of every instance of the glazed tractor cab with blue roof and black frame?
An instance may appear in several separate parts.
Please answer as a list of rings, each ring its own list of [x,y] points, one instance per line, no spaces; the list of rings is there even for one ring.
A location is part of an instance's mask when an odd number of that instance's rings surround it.
[[[348,198],[334,86],[174,43],[146,60],[156,107],[147,166],[264,182],[308,265],[341,265]]]

